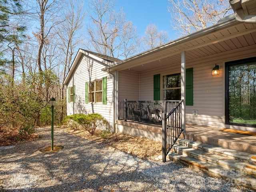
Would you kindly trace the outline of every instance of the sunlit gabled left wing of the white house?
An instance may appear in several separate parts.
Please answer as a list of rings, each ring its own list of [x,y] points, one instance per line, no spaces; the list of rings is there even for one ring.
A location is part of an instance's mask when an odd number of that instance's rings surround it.
[[[64,80],[67,86],[67,115],[100,113],[111,126],[113,117],[113,76],[102,71],[119,59],[79,49]]]

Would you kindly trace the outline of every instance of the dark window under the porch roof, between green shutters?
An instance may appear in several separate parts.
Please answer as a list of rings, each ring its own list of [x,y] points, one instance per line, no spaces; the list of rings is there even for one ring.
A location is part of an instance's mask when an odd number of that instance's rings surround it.
[[[181,85],[180,74],[163,76],[163,98],[164,100],[180,100]]]

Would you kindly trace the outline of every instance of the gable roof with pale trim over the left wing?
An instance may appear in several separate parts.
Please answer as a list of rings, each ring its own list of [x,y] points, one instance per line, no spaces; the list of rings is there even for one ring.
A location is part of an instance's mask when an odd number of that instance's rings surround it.
[[[99,54],[99,53],[95,53],[95,52],[92,52],[92,51],[88,51],[88,50],[84,50],[84,49],[79,49],[77,54],[76,54],[76,57],[74,58],[74,61],[72,62],[72,65],[66,75],[66,78],[64,79],[64,82],[63,84],[64,85],[67,85],[70,78],[72,77],[72,75],[74,74],[75,70],[76,70],[76,66],[78,64],[78,62],[80,61],[80,58],[82,56],[86,56],[88,58],[91,58],[93,60],[97,60],[99,63],[105,65],[105,66],[110,66],[112,63],[114,62],[120,62],[121,60],[120,59],[117,59],[117,58],[113,58],[113,57],[110,57],[110,56],[106,56],[106,55],[102,55],[102,54]]]

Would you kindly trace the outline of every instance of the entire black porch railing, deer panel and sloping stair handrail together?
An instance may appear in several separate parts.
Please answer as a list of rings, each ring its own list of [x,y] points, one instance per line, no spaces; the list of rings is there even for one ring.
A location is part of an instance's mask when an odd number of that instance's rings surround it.
[[[118,101],[118,119],[162,125],[162,160],[166,162],[167,154],[184,131],[182,102],[184,100]]]

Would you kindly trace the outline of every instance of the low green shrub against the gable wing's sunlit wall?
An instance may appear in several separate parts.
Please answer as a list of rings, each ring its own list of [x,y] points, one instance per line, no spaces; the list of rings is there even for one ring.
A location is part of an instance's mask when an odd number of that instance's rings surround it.
[[[94,134],[96,128],[104,129],[108,127],[108,121],[101,114],[98,113],[75,114],[66,116],[64,122],[67,122],[68,119],[74,120],[75,122],[80,124],[82,128],[88,131],[91,135]]]

